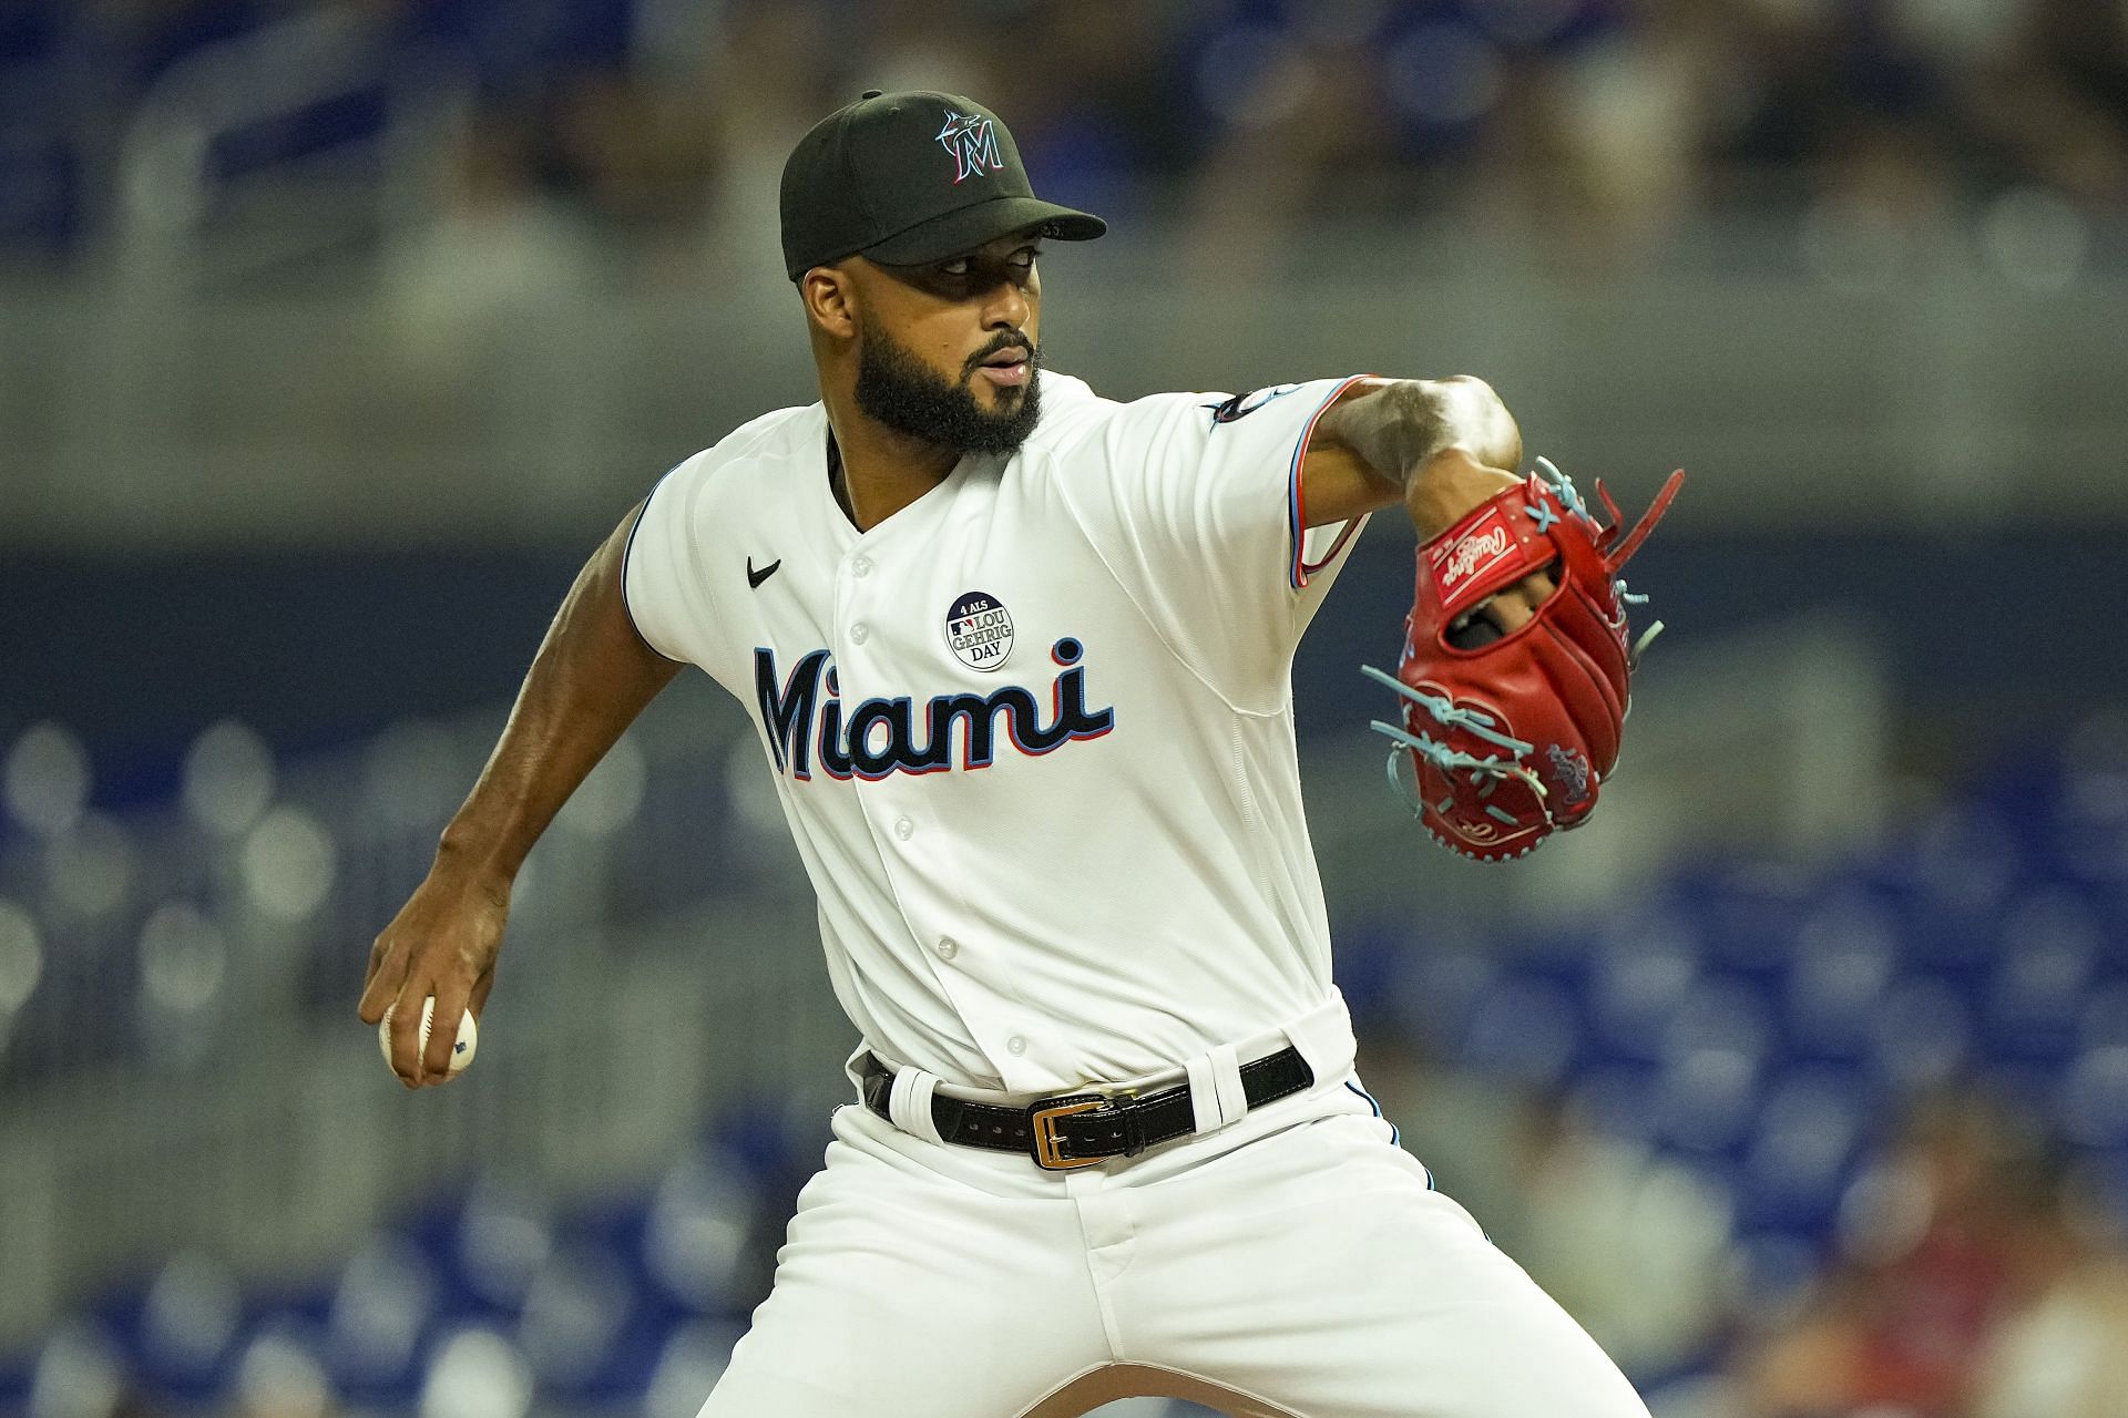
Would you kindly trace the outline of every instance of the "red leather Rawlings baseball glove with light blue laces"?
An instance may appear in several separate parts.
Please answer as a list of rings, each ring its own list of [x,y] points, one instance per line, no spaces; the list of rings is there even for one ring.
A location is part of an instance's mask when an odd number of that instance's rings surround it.
[[[1558,829],[1579,827],[1617,763],[1639,653],[1662,629],[1628,640],[1619,570],[1670,506],[1673,472],[1641,521],[1619,536],[1617,504],[1602,525],[1573,480],[1547,459],[1419,546],[1419,585],[1396,674],[1362,672],[1404,699],[1390,782],[1426,831],[1479,861],[1507,861]],[[1498,634],[1473,617],[1485,597],[1551,568],[1558,589],[1526,625]],[[1411,763],[1411,782],[1402,763]]]

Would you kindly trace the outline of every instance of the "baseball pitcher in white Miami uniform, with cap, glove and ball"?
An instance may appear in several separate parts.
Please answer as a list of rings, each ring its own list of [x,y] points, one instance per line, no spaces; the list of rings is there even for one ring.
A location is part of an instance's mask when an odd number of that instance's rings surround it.
[[[1043,370],[1045,244],[1104,223],[968,98],[830,115],[781,217],[819,402],[666,474],[568,591],[372,950],[396,1071],[449,1080],[421,1001],[479,1012],[526,853],[698,665],[753,719],[860,1040],[704,1418],[1645,1418],[1353,1071],[1290,691],[1404,508],[1392,772],[1456,850],[1519,855],[1617,757],[1641,531],[1515,476],[1475,378],[1119,404]]]

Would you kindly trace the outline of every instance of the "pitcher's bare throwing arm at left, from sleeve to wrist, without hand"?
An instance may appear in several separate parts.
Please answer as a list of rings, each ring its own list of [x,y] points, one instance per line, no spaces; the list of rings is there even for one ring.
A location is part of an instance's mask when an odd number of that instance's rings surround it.
[[[621,600],[634,519],[615,527],[562,600],[487,767],[443,833],[438,865],[513,880],[577,784],[679,674],[643,642]]]

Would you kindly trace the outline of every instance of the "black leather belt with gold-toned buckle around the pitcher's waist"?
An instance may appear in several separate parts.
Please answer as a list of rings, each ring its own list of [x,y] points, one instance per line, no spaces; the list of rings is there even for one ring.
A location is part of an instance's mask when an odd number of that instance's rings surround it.
[[[894,1120],[894,1069],[864,1054],[864,1105]],[[1249,1108],[1262,1108],[1315,1084],[1315,1071],[1298,1048],[1281,1048],[1241,1065],[1241,1093]],[[932,1122],[947,1142],[996,1152],[1026,1152],[1036,1167],[1070,1171],[1111,1157],[1136,1157],[1145,1148],[1196,1131],[1190,1084],[1160,1093],[1111,1095],[1068,1093],[1034,1099],[1026,1108],[970,1103],[932,1093]]]

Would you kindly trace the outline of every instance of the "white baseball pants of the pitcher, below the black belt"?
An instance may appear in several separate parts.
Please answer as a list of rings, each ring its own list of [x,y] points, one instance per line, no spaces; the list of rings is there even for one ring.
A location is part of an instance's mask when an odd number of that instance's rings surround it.
[[[1647,1418],[1349,1074],[1079,1171],[860,1105],[702,1418]]]

